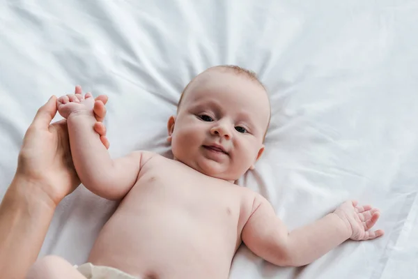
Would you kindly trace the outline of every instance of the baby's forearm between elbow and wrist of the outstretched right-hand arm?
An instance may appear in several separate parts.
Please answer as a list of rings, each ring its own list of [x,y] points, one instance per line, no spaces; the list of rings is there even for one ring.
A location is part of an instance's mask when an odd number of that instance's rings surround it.
[[[303,266],[314,262],[350,238],[350,230],[334,213],[293,230],[288,235],[286,265]]]

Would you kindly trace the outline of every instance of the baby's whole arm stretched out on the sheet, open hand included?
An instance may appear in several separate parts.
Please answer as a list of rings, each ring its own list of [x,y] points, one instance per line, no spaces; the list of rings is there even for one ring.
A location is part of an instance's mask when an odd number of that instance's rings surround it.
[[[259,257],[279,266],[303,266],[314,262],[347,239],[366,240],[382,236],[369,232],[379,218],[371,206],[345,202],[334,213],[288,232],[270,203],[256,197],[253,213],[242,229],[242,241]],[[363,222],[362,222],[363,221]]]

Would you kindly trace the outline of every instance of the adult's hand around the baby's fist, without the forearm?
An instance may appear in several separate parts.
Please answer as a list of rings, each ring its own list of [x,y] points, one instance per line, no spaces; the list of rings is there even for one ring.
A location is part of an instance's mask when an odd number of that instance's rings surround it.
[[[77,86],[75,93],[81,91],[81,87]],[[100,110],[95,110],[96,119],[103,121],[107,96],[101,95],[95,100],[103,104],[98,105]],[[49,98],[38,110],[24,135],[15,175],[15,179],[27,182],[25,183],[27,187],[37,187],[35,190],[45,193],[54,205],[59,204],[63,197],[72,193],[80,183],[72,164],[67,122],[63,119],[50,124],[56,111],[55,96]],[[98,131],[104,146],[108,147],[106,131],[95,130]]]

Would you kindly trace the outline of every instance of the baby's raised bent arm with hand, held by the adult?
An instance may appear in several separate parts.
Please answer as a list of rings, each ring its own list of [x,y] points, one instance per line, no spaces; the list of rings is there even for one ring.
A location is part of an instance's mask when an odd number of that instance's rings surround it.
[[[91,192],[121,199],[137,181],[143,153],[134,151],[112,160],[93,126],[94,100],[90,94],[62,96],[59,113],[67,119],[72,160],[80,180]]]

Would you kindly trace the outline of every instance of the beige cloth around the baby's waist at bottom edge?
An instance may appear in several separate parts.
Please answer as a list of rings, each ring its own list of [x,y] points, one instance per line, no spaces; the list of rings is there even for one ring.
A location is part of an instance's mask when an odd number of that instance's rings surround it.
[[[75,266],[75,268],[87,279],[138,279],[119,269],[109,266],[95,266],[89,262],[81,266]]]

